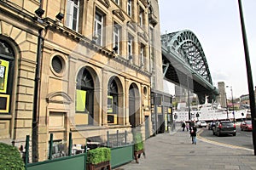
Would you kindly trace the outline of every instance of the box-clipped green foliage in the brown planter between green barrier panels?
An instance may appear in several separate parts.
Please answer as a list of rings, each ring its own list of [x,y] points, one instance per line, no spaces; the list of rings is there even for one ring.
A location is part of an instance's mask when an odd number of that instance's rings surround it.
[[[94,150],[88,150],[87,163],[96,165],[102,161],[110,161],[111,151],[110,148],[102,147]]]

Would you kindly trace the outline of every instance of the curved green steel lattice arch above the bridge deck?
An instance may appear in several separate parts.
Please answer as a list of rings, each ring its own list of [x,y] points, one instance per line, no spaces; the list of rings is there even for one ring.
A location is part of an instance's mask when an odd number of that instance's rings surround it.
[[[163,38],[165,38],[163,36]],[[184,30],[167,35],[167,47],[172,48],[183,57],[183,61],[212,84],[212,77],[207,58],[201,43],[192,31]]]

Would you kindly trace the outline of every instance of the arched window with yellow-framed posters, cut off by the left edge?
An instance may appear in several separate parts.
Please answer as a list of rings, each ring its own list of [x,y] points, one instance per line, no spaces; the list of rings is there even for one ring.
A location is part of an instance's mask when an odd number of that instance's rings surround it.
[[[9,114],[13,75],[15,70],[15,53],[9,44],[0,40],[0,113]]]

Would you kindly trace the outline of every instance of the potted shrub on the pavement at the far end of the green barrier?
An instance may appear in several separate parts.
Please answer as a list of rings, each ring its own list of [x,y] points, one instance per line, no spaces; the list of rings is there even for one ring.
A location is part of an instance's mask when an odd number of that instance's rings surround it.
[[[140,158],[141,154],[145,157],[144,143],[142,133],[134,134],[134,158],[138,163],[137,159]]]

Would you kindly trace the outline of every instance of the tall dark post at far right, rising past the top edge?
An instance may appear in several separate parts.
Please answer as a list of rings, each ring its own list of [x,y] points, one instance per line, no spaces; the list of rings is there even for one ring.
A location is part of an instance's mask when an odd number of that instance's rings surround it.
[[[238,0],[238,6],[239,6],[239,14],[240,14],[240,20],[241,20],[243,48],[244,48],[246,66],[247,66],[247,82],[248,82],[250,108],[251,108],[252,125],[253,125],[253,149],[254,149],[254,156],[256,156],[256,119],[255,119],[255,97],[254,97],[254,90],[253,90],[253,76],[252,76],[251,62],[250,62],[250,56],[249,56],[249,49],[247,45],[247,33],[245,30],[245,24],[244,24],[243,13],[241,8],[241,0]]]

